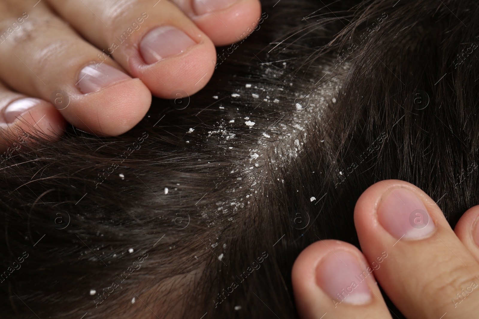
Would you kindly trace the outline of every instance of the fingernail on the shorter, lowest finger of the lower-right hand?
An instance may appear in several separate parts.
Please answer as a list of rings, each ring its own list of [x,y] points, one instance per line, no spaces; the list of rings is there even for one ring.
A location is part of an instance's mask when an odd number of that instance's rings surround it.
[[[371,300],[371,291],[366,283],[366,277],[370,274],[361,269],[354,255],[337,251],[330,253],[316,268],[316,283],[336,300],[335,304],[345,302],[360,305]]]

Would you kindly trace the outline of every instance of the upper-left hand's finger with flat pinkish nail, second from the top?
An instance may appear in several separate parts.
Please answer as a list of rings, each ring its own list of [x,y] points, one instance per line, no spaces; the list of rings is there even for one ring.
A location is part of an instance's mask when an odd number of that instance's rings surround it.
[[[112,55],[156,96],[193,94],[213,74],[214,44],[168,0],[49,2],[85,38],[104,49],[102,56]]]

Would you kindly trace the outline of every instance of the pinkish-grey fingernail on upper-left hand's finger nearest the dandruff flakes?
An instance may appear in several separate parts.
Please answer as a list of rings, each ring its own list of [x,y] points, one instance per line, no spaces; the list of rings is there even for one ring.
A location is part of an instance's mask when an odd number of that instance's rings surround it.
[[[166,25],[150,30],[140,42],[140,53],[147,64],[182,53],[196,44],[186,33]]]

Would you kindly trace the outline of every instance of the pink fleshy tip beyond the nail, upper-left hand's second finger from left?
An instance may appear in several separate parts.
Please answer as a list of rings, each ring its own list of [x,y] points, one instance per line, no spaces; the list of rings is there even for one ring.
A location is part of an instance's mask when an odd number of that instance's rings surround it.
[[[138,78],[116,82],[99,91],[74,96],[62,110],[65,118],[85,132],[120,135],[143,119],[151,105],[151,92]]]

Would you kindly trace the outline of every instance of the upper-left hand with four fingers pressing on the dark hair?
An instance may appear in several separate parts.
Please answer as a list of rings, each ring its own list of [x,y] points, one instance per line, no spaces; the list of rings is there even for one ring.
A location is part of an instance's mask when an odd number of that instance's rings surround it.
[[[151,94],[203,88],[215,45],[249,35],[260,10],[258,0],[0,0],[0,129],[55,138],[66,120],[126,132]]]

